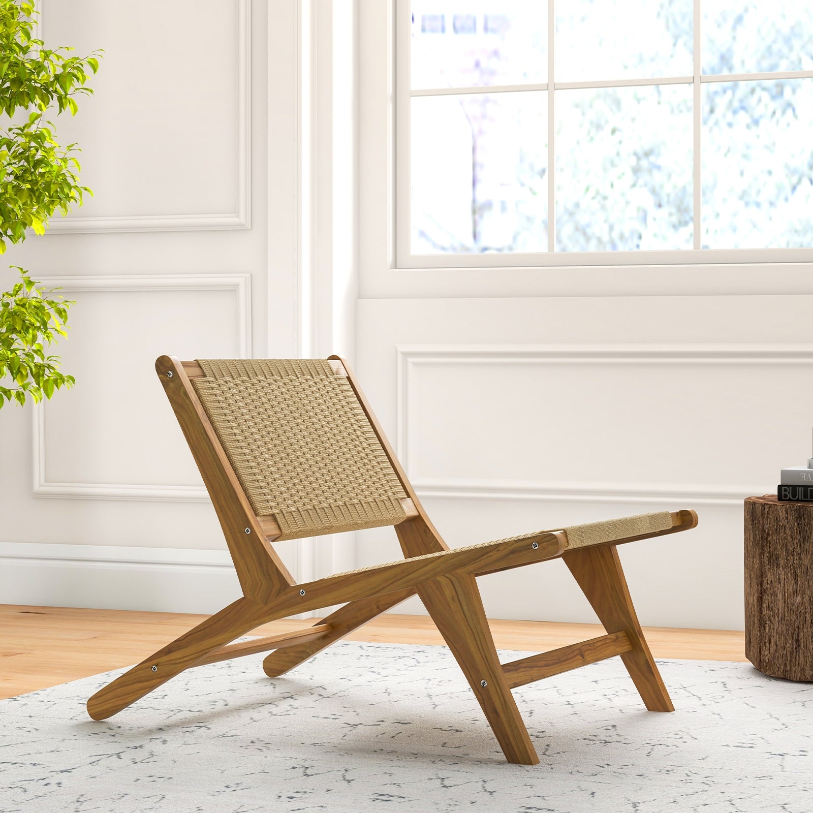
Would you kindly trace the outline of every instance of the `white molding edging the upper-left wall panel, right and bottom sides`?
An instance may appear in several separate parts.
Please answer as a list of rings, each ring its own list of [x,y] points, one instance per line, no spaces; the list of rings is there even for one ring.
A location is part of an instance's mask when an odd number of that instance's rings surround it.
[[[41,27],[42,23],[40,23]],[[237,211],[205,215],[68,215],[46,234],[189,232],[251,228],[251,2],[237,0]]]

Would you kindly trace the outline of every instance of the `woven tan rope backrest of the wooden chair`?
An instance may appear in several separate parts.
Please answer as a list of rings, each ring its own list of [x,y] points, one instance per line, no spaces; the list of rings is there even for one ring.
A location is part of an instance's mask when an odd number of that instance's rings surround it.
[[[198,359],[193,378],[254,513],[280,539],[401,522],[401,483],[346,376],[324,359]]]

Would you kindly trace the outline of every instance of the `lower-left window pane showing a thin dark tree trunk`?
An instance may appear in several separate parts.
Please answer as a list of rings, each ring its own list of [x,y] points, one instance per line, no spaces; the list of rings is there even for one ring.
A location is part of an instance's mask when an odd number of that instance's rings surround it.
[[[414,254],[547,250],[547,93],[411,102]]]

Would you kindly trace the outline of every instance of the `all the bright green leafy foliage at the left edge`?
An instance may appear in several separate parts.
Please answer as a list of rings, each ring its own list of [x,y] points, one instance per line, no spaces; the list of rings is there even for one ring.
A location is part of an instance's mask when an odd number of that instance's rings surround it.
[[[47,111],[59,115],[79,109],[76,96],[93,93],[86,87],[98,71],[94,51],[86,57],[70,55],[72,48],[46,48],[33,37],[37,11],[33,0],[0,0],[0,254],[8,243],[21,243],[30,229],[45,233],[55,211],[67,214],[82,205],[78,148],[60,146]],[[12,117],[27,111],[20,122]],[[74,383],[59,372],[59,358],[46,348],[66,335],[67,308],[73,302],[49,298],[24,269],[20,282],[0,294],[0,407],[14,400],[35,402]]]

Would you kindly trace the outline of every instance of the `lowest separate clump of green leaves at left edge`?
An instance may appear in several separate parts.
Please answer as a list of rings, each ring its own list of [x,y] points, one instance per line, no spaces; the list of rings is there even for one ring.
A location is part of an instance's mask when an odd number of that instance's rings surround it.
[[[73,376],[59,372],[56,356],[46,355],[46,347],[58,336],[66,336],[67,308],[74,302],[62,297],[51,299],[46,291],[19,266],[20,282],[0,294],[0,406],[14,399],[25,403],[26,393],[39,402],[54,391],[72,387]]]

